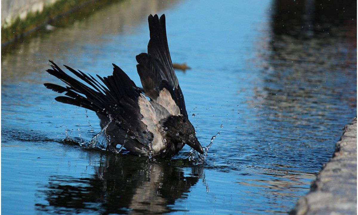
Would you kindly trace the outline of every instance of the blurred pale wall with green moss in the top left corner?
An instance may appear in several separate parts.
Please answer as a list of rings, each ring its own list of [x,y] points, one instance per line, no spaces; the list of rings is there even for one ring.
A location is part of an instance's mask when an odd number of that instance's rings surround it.
[[[71,12],[94,10],[113,1],[116,0],[1,0],[1,46]]]

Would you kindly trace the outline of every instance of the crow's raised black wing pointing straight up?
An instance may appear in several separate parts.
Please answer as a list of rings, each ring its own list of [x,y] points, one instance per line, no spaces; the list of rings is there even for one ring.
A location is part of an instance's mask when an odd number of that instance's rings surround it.
[[[148,23],[150,31],[148,53],[141,53],[136,56],[137,71],[145,94],[152,100],[156,100],[159,92],[166,88],[178,105],[180,114],[188,117],[184,96],[170,58],[165,16],[163,14],[159,19],[158,15],[149,15]]]

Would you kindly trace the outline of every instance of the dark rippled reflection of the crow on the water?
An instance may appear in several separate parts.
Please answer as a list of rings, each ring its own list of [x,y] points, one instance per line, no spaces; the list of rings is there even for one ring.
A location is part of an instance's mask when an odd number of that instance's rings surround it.
[[[123,155],[103,155],[94,168],[91,177],[50,176],[35,200],[47,204],[37,203],[36,209],[46,214],[168,213],[203,177],[200,167],[186,176],[180,167]]]

